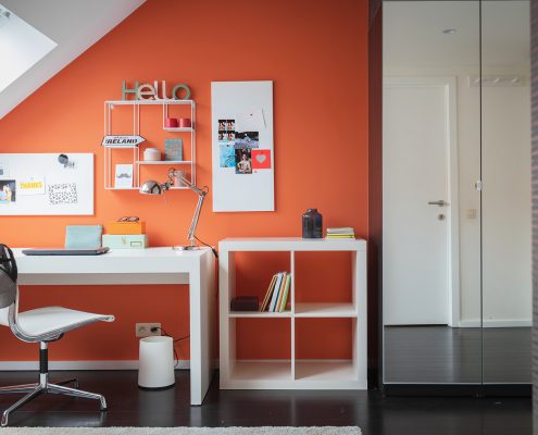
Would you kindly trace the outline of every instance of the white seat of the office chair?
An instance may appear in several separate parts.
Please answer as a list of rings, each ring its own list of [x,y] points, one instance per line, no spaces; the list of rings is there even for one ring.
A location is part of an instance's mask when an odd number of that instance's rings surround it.
[[[63,333],[83,324],[93,322],[113,322],[113,315],[95,314],[85,311],[70,310],[63,307],[45,307],[18,313],[17,323],[28,335]]]

